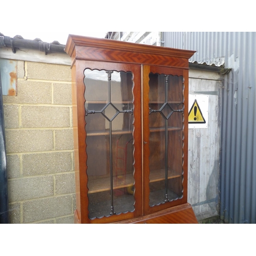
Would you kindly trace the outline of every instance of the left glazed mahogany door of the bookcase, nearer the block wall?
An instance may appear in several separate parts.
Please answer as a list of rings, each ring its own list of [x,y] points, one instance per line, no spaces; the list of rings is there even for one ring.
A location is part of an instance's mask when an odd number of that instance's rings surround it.
[[[84,62],[86,166],[80,188],[86,223],[108,223],[141,215],[140,66]],[[79,122],[79,119],[78,119]],[[82,120],[83,122],[83,120]]]

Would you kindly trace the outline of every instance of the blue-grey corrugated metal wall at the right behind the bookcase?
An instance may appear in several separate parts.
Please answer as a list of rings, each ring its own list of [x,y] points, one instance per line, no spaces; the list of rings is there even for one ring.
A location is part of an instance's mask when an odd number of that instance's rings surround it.
[[[256,223],[255,32],[163,32],[165,47],[196,50],[190,61],[225,61],[221,99],[220,215]]]

